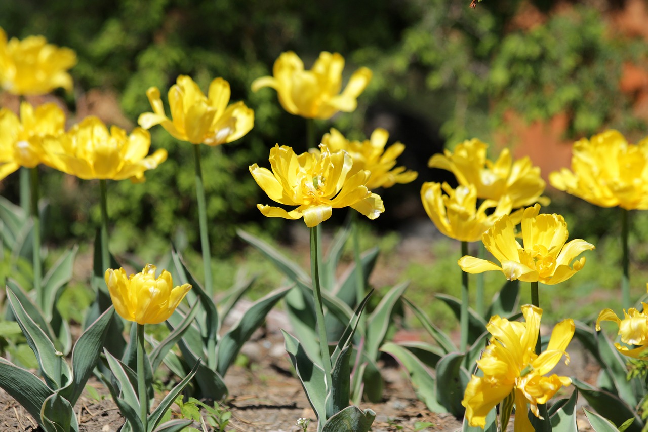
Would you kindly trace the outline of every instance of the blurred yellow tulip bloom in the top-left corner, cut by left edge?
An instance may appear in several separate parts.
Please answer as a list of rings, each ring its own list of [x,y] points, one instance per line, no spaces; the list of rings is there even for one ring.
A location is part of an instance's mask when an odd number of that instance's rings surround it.
[[[0,87],[14,95],[43,95],[59,87],[72,90],[67,69],[75,64],[76,54],[69,48],[47,43],[43,36],[7,42],[0,28]]]

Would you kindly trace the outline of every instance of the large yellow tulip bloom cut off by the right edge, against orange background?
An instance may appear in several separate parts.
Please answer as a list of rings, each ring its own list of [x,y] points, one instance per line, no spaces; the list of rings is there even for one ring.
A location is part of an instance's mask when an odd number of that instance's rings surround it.
[[[550,174],[551,186],[601,207],[648,209],[648,138],[629,144],[617,130],[576,141],[572,170]]]

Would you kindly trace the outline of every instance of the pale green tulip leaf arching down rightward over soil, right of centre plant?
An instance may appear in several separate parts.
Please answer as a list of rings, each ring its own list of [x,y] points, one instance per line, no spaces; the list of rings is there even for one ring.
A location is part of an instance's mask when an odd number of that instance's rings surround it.
[[[447,413],[448,410],[437,400],[435,377],[428,368],[406,348],[393,342],[386,342],[380,351],[392,355],[410,374],[414,390],[433,413]]]

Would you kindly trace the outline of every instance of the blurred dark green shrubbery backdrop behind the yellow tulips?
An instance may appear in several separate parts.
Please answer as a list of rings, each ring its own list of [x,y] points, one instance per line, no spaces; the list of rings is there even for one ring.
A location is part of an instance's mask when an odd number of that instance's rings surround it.
[[[235,226],[275,235],[284,226],[260,217],[255,204],[266,198],[248,165],[268,166],[275,143],[305,150],[305,122],[283,112],[275,91],[252,93],[250,84],[270,75],[274,60],[289,49],[306,67],[320,51],[338,51],[347,59],[345,76],[359,66],[374,71],[358,110],[316,122],[318,134],[335,126],[351,138],[368,136],[365,114],[378,104],[394,116],[412,115],[421,128],[439,125],[450,144],[473,136],[492,141],[507,110],[529,121],[567,112],[571,138],[606,126],[645,132],[618,86],[623,62],[645,62],[645,43],[614,36],[596,8],[579,2],[531,30],[519,29],[514,17],[523,3],[484,1],[470,9],[469,1],[457,0],[9,0],[0,3],[0,27],[9,37],[43,34],[75,49],[75,93],[57,92],[73,111],[84,91],[111,89],[135,125],[139,114],[150,111],[149,86],[157,86],[166,101],[179,74],[191,75],[203,90],[214,77],[230,82],[232,100],[245,101],[256,119],[237,142],[202,149],[211,243],[216,256],[225,256],[235,246]],[[527,3],[544,11],[557,1]],[[198,246],[189,144],[159,127],[152,138],[154,149],[168,150],[167,162],[143,184],[108,185],[113,252],[135,251],[143,260],[159,256],[168,239]],[[433,139],[422,132],[405,141],[403,158],[426,160],[438,151]],[[430,180],[426,173],[399,186],[399,195],[418,200],[424,180]],[[16,198],[17,175],[3,183],[3,195]],[[55,204],[46,238],[91,239],[97,185],[49,171],[43,185],[43,195]]]

